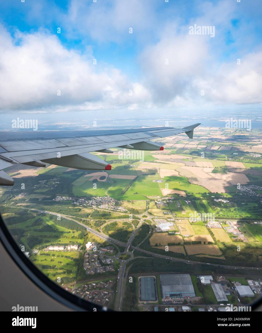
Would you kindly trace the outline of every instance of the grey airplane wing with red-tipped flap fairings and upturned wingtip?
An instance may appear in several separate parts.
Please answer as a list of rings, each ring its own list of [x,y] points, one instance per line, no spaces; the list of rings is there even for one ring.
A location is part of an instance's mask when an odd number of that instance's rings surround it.
[[[0,185],[14,180],[3,169],[15,165],[45,166],[45,163],[85,170],[111,170],[111,166],[90,152],[113,153],[110,148],[163,150],[152,139],[185,133],[192,139],[194,124],[172,127],[95,130],[0,132]]]

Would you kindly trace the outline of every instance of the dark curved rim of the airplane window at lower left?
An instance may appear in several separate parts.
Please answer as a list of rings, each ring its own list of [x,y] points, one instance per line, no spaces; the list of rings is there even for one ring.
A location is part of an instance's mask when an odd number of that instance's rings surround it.
[[[12,234],[8,230],[1,212],[0,212],[0,241],[3,244],[5,250],[18,265],[22,272],[42,291],[54,298],[56,301],[64,304],[65,306],[75,311],[96,311],[110,312],[114,311],[101,305],[86,301],[78,296],[75,296],[62,287],[58,286],[46,275],[44,275],[26,255],[20,250],[18,244],[14,240]]]

